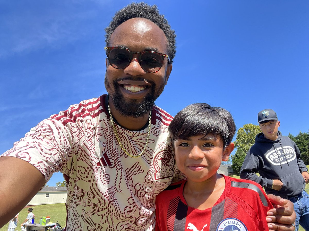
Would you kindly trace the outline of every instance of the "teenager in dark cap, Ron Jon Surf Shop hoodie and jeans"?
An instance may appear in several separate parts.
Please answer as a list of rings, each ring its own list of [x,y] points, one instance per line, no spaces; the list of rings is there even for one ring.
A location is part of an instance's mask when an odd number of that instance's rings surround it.
[[[292,201],[296,230],[299,224],[309,230],[309,195],[305,191],[309,173],[300,151],[293,140],[278,131],[280,121],[275,111],[260,111],[257,122],[262,132],[256,135],[255,144],[243,161],[240,178],[259,183],[267,194]]]

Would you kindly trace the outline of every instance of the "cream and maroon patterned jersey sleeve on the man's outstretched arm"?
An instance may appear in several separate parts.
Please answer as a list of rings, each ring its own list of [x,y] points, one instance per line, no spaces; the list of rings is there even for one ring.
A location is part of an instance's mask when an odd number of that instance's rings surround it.
[[[68,162],[77,147],[76,143],[68,126],[58,120],[46,119],[1,156],[14,156],[27,161],[44,175],[47,182],[54,172],[69,175]]]

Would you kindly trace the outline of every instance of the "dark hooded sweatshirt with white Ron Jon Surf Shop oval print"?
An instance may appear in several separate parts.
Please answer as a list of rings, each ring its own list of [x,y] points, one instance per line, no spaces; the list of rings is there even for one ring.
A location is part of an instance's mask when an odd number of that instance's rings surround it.
[[[299,149],[293,140],[278,131],[278,138],[273,141],[261,132],[256,135],[255,144],[243,161],[240,178],[259,183],[267,194],[289,197],[304,190],[306,183],[301,173],[305,171],[308,168],[300,159]],[[275,179],[283,183],[279,191],[271,188]]]

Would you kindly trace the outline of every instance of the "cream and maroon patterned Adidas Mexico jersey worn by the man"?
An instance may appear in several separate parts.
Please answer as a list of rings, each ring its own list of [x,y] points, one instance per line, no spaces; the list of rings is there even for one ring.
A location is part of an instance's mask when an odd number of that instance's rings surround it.
[[[107,95],[102,95],[52,115],[3,155],[28,161],[46,182],[54,172],[64,174],[66,231],[153,230],[155,196],[178,174],[167,131],[172,116],[152,108],[146,151],[132,158],[116,140],[106,103]],[[116,129],[126,150],[143,150],[147,126],[141,131]]]

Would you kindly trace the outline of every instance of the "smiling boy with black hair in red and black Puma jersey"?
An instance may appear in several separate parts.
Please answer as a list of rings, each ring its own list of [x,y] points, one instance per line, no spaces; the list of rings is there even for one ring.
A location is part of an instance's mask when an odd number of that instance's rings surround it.
[[[185,107],[168,131],[187,180],[156,197],[155,230],[265,230],[272,205],[261,186],[218,174],[234,149],[232,115],[206,103]]]

